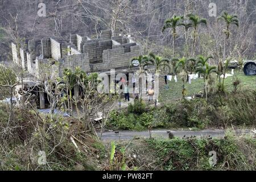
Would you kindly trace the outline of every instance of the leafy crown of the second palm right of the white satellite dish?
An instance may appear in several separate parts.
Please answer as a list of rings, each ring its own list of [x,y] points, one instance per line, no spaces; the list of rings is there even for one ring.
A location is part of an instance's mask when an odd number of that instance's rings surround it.
[[[148,54],[148,56],[150,57],[150,59],[147,60],[147,63],[145,65],[152,65],[155,67],[155,73],[159,74],[162,70],[162,68],[170,68],[170,60],[168,59],[164,59],[160,56],[155,55],[154,53],[150,52]]]

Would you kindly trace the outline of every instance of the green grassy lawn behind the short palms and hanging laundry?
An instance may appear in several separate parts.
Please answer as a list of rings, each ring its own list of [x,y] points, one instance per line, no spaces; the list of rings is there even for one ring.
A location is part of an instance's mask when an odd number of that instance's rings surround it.
[[[228,73],[231,73],[229,71]],[[238,89],[247,89],[247,90],[256,90],[256,76],[245,76],[241,71],[235,71],[234,75],[240,78],[241,84]],[[174,77],[173,77],[174,78]],[[177,76],[177,82],[168,81],[168,88],[165,88],[165,85],[160,86],[160,94],[159,94],[159,102],[168,102],[168,101],[177,101],[182,98],[182,85],[181,77]],[[233,90],[233,78],[234,76],[230,76],[225,78],[225,89],[228,92],[232,92]],[[160,78],[164,80],[164,78]],[[162,81],[161,80],[161,81]],[[191,84],[186,83],[185,88],[187,89],[187,97],[193,96],[200,91],[203,91],[204,81],[203,78],[197,78],[196,80],[192,80]],[[216,76],[216,88],[217,88],[217,76]]]

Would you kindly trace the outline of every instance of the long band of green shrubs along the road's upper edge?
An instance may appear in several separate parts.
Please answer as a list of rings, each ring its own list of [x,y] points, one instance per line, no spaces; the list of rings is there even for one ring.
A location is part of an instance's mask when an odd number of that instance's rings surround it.
[[[143,127],[192,127],[205,129],[209,126],[228,127],[256,124],[256,92],[218,93],[209,98],[179,101],[162,107],[146,109],[143,101],[129,105],[127,113],[114,111],[110,115],[110,127],[134,129],[137,123]],[[119,128],[121,127],[121,128]],[[136,126],[136,130],[142,130]]]

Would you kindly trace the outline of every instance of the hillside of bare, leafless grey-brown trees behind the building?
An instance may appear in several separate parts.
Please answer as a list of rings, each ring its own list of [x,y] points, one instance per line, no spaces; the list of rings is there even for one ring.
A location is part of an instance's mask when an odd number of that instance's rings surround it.
[[[39,3],[46,4],[46,17],[38,16]],[[209,16],[209,3],[214,2],[216,16]],[[228,8],[227,8],[228,7]],[[24,38],[58,36],[68,40],[68,35],[79,32],[94,37],[100,31],[111,28],[115,34],[131,34],[143,44],[144,53],[153,51],[171,57],[172,35],[162,33],[164,20],[172,15],[198,14],[208,20],[207,26],[200,26],[196,53],[222,55],[224,42],[223,24],[217,20],[223,11],[238,15],[240,27],[234,28],[226,52],[234,59],[255,59],[255,0],[2,0],[0,2],[0,57],[6,61],[11,35],[8,29],[11,15],[18,14],[19,34]],[[211,11],[212,12],[212,11]],[[185,30],[179,27],[176,44],[183,56]],[[4,31],[5,30],[5,31]],[[187,39],[192,44],[193,29],[189,28]],[[191,47],[191,45],[188,45]],[[190,50],[189,50],[190,51]],[[217,60],[216,60],[217,61]]]

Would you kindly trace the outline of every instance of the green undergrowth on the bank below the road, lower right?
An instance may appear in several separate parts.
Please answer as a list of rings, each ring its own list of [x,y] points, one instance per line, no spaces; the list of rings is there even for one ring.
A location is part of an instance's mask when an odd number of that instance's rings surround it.
[[[256,169],[255,138],[252,137],[234,137],[228,133],[225,138],[147,139],[146,142],[155,151],[158,161],[155,165],[164,170]],[[216,151],[216,166],[209,163],[210,151]]]

